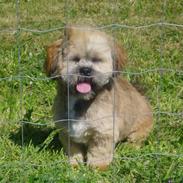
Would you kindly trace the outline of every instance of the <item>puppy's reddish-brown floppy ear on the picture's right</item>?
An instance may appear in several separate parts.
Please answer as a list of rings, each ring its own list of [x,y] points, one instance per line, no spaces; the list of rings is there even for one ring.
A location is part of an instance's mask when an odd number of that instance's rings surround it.
[[[127,55],[118,43],[114,45],[114,61],[115,71],[121,71],[127,62]]]

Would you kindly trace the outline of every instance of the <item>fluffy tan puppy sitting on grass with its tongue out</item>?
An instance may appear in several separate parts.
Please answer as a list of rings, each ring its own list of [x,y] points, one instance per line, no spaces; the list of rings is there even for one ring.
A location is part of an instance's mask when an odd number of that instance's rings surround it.
[[[45,70],[58,83],[54,121],[73,166],[105,170],[118,142],[139,143],[151,131],[150,105],[118,72],[126,60],[112,37],[88,27],[67,26],[47,47]]]

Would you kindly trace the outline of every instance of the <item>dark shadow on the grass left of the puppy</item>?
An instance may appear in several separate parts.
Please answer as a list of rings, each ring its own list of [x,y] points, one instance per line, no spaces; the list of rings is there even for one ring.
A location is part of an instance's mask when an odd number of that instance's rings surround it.
[[[38,127],[31,124],[24,124],[23,130],[20,127],[15,133],[10,134],[10,139],[17,145],[39,147],[39,151],[47,149],[50,151],[60,151],[62,145],[58,138],[58,133],[53,134],[54,128]],[[22,135],[23,132],[23,135]]]

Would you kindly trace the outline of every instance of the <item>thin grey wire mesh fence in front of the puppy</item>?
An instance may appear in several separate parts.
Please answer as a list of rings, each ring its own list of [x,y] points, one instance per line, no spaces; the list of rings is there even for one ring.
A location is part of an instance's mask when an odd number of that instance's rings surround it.
[[[55,28],[50,28],[50,29],[46,29],[46,30],[38,30],[38,29],[29,29],[29,28],[25,28],[25,27],[21,27],[20,25],[20,1],[19,0],[16,0],[16,19],[17,19],[17,25],[16,25],[16,28],[15,29],[12,29],[12,28],[6,28],[6,29],[0,29],[0,33],[9,33],[9,34],[16,34],[16,42],[17,42],[17,45],[18,45],[18,68],[19,68],[19,72],[18,72],[18,75],[11,75],[11,76],[8,76],[8,77],[1,77],[0,78],[0,81],[7,81],[7,82],[11,82],[11,81],[14,81],[14,80],[17,80],[19,81],[19,95],[20,95],[20,114],[19,114],[19,118],[20,119],[23,119],[23,83],[22,81],[24,79],[29,79],[31,81],[46,81],[46,80],[51,80],[51,79],[54,79],[54,78],[59,78],[61,77],[60,75],[57,75],[57,76],[53,76],[53,77],[34,77],[34,76],[25,76],[25,75],[22,75],[22,72],[21,72],[21,49],[20,49],[20,45],[19,45],[19,39],[20,39],[20,34],[23,33],[23,32],[29,32],[29,33],[37,33],[37,34],[44,34],[44,33],[50,33],[50,32],[56,32],[56,31],[60,31],[60,30],[63,30],[65,28],[65,26],[61,26],[61,27],[55,27]],[[164,7],[165,8],[165,7]],[[68,22],[68,19],[67,19],[67,12],[68,12],[68,3],[67,1],[65,1],[65,24],[67,25]],[[113,12],[114,15],[115,15],[115,12]],[[163,44],[163,28],[165,27],[173,27],[173,28],[176,28],[176,29],[183,29],[183,25],[182,24],[174,24],[174,23],[169,23],[169,22],[165,22],[164,19],[162,19],[161,22],[156,22],[156,23],[152,23],[152,24],[145,24],[145,25],[125,25],[125,24],[115,24],[115,23],[112,23],[112,24],[109,24],[109,25],[103,25],[103,26],[98,26],[96,27],[95,29],[96,30],[105,30],[105,29],[112,29],[112,31],[114,30],[119,30],[119,29],[134,29],[134,30],[137,30],[137,29],[148,29],[148,28],[152,28],[152,27],[158,27],[158,28],[161,28],[162,29],[162,33],[161,33],[161,43]],[[78,26],[75,26],[73,27],[75,29],[81,29],[80,27]],[[84,29],[84,28],[82,28]],[[92,28],[93,29],[93,28]],[[88,30],[88,28],[87,28]],[[114,40],[115,40],[115,33],[113,32],[113,37],[114,37]],[[67,35],[65,35],[67,36]],[[66,43],[67,44],[67,43]],[[162,46],[162,45],[161,45]],[[162,65],[162,58],[163,58],[163,52],[164,50],[161,48],[160,50],[160,54],[161,54],[161,58],[160,58],[160,65]],[[68,60],[67,60],[67,63],[68,63]],[[69,63],[68,63],[69,64]],[[68,65],[67,65],[68,67]],[[172,68],[163,68],[163,67],[160,67],[160,68],[150,68],[150,69],[145,69],[145,70],[141,70],[141,71],[116,71],[116,70],[113,70],[112,73],[119,73],[121,75],[125,75],[125,74],[129,74],[129,75],[143,75],[143,74],[146,74],[146,73],[156,73],[156,74],[159,74],[160,75],[160,83],[159,83],[159,88],[158,88],[158,94],[160,93],[161,91],[161,86],[162,86],[162,74],[163,73],[175,73],[177,75],[180,75],[182,76],[183,75],[183,70],[180,68],[180,69],[172,69]],[[109,73],[104,73],[104,74],[109,74]],[[71,76],[71,74],[68,74],[68,71],[67,71],[67,76]],[[79,75],[77,75],[79,76]],[[69,86],[69,83],[68,83],[68,86]],[[67,91],[67,94],[68,94],[68,118],[67,119],[61,119],[61,120],[58,120],[58,121],[53,121],[54,123],[60,123],[60,122],[64,122],[64,121],[67,121],[68,122],[68,128],[70,128],[70,122],[71,121],[78,121],[76,119],[72,119],[70,118],[70,114],[69,114],[69,111],[70,111],[70,99],[69,99],[69,96],[70,96],[70,91],[69,91],[69,87],[68,88],[68,91]],[[114,109],[114,105],[115,105],[115,92],[114,92],[114,99],[113,99],[113,109]],[[159,103],[159,107],[158,107],[158,111],[156,112],[153,112],[153,114],[155,116],[158,116],[158,118],[160,118],[160,115],[168,115],[168,116],[178,116],[180,117],[181,119],[183,119],[183,112],[168,112],[168,111],[161,111],[160,110],[160,97],[157,96],[157,102]],[[106,115],[106,116],[102,116],[101,118],[98,118],[98,119],[94,119],[92,121],[98,121],[98,120],[101,120],[101,119],[106,119],[106,118],[109,118],[111,119],[111,121],[113,122],[113,132],[114,132],[114,126],[115,126],[115,115],[114,115],[114,110],[113,110],[113,115]],[[148,114],[147,114],[148,115]],[[135,117],[135,116],[134,116]],[[85,123],[89,122],[89,120],[86,120]],[[24,124],[31,124],[31,125],[35,125],[35,126],[49,126],[50,123],[34,123],[34,122],[31,122],[31,121],[24,121],[24,120],[20,120],[20,123],[21,123],[21,126],[22,126],[22,151],[23,151],[23,147],[24,147]],[[113,140],[113,143],[114,143],[114,140]],[[68,140],[68,144],[70,144],[70,138]],[[69,145],[70,147],[70,145]],[[113,144],[113,147],[114,147],[114,144]],[[70,150],[68,150],[70,152]],[[70,153],[69,153],[70,154]],[[23,155],[23,152],[22,152],[22,155]],[[143,154],[143,155],[139,155],[139,156],[125,156],[125,157],[119,157],[117,155],[113,155],[114,159],[120,159],[120,160],[137,160],[137,159],[141,159],[141,158],[144,158],[144,157],[151,157],[151,158],[157,158],[158,157],[161,157],[161,156],[166,156],[166,157],[180,157],[182,158],[183,157],[183,154],[173,154],[173,153],[159,153],[158,152],[158,149],[157,149],[157,152],[154,153],[148,153],[148,154]],[[34,164],[34,163],[26,163],[26,161],[24,162],[24,157],[21,156],[21,162],[7,162],[6,164],[0,164],[0,166],[14,166],[14,165],[17,165],[19,166],[20,164],[23,165],[23,166],[26,166],[26,165],[31,165],[31,166],[53,166],[53,165],[56,165],[58,163],[61,163],[61,162],[67,162],[66,160],[63,160],[63,161],[56,161],[56,162],[53,162],[51,164]]]

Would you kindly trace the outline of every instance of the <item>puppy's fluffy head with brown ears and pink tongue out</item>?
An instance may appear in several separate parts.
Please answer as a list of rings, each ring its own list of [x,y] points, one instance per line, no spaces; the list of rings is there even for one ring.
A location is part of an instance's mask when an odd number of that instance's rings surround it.
[[[48,76],[61,78],[70,92],[90,100],[112,84],[125,64],[123,49],[105,33],[88,29],[65,29],[65,38],[47,48],[45,69]],[[60,77],[59,77],[60,76]]]

